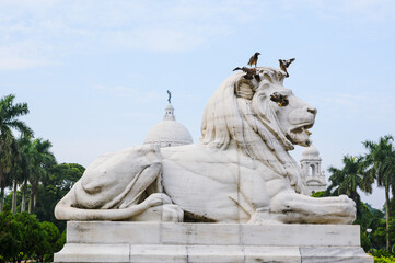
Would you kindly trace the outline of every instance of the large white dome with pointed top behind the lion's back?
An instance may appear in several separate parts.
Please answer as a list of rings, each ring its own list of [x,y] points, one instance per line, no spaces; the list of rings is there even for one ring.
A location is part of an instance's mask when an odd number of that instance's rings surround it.
[[[148,132],[144,144],[171,147],[194,144],[194,140],[188,129],[175,121],[173,105],[169,103],[163,121]]]

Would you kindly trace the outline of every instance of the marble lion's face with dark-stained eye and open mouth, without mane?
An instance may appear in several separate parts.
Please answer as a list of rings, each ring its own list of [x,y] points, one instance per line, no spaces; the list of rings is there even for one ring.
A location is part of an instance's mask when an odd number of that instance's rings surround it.
[[[266,101],[277,115],[278,124],[287,139],[293,145],[310,146],[309,129],[314,125],[316,108],[312,107],[289,89],[270,84],[263,90]]]

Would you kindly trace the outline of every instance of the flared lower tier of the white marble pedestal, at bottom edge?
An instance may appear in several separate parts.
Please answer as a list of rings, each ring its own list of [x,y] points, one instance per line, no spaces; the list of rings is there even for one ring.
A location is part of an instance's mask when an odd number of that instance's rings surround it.
[[[373,263],[356,247],[259,247],[259,245],[166,245],[166,244],[75,244],[68,243],[54,262],[283,262]]]

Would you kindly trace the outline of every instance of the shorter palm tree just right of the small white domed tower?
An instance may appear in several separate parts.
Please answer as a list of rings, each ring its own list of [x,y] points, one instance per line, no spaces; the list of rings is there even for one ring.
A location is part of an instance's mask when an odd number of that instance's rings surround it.
[[[335,195],[348,195],[356,202],[357,216],[359,216],[361,198],[358,194],[358,188],[365,193],[372,193],[373,181],[363,175],[361,157],[345,156],[342,163],[344,168],[341,170],[334,167],[328,169],[332,175],[329,178],[330,185],[327,191]]]

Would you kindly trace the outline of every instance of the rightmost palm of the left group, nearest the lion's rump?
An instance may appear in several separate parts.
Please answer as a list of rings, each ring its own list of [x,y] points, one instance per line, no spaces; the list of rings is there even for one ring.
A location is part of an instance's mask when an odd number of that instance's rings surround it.
[[[56,159],[50,148],[53,145],[49,140],[43,140],[42,138],[33,141],[32,149],[32,164],[33,169],[28,176],[31,183],[31,198],[28,202],[28,213],[32,213],[36,206],[36,193],[40,181],[45,180],[49,175],[49,169],[56,165]]]

